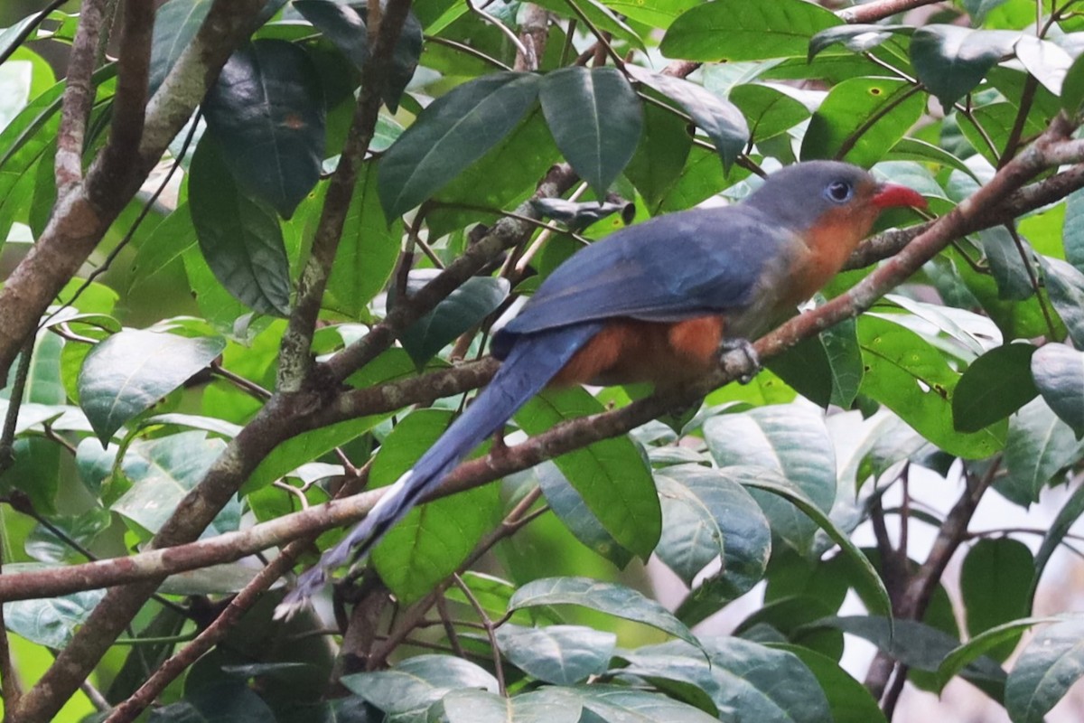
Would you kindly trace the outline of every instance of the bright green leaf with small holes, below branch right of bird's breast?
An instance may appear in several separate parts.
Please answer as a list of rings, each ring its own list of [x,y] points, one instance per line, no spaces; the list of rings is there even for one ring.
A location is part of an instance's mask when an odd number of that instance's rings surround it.
[[[859,318],[866,375],[862,392],[881,402],[950,454],[982,459],[1002,449],[1005,427],[960,434],[952,424],[959,375],[918,334],[875,314]]]

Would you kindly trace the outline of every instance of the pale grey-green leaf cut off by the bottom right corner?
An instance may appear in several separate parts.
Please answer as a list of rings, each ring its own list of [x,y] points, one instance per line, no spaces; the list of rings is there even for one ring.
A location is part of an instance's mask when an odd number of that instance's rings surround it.
[[[1042,723],[1084,674],[1084,619],[1041,630],[1023,649],[1005,684],[1005,709],[1014,723]]]

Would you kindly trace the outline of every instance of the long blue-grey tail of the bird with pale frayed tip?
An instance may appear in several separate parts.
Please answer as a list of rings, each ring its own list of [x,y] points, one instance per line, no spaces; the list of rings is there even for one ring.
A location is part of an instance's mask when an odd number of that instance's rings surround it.
[[[369,553],[424,496],[440,487],[464,456],[541,391],[601,327],[597,323],[581,324],[518,338],[489,386],[414,467],[387,488],[369,515],[298,578],[275,617],[289,616],[304,606],[326,583],[328,570]]]

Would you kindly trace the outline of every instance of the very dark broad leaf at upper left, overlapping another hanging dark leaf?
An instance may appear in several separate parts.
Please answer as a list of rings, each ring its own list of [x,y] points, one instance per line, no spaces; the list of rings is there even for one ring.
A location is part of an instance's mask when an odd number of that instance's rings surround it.
[[[237,185],[284,218],[320,179],[321,88],[300,47],[257,40],[230,56],[203,104],[207,130]]]

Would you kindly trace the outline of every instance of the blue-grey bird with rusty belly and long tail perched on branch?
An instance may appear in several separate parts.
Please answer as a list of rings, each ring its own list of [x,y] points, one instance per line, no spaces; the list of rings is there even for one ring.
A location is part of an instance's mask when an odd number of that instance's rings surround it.
[[[770,175],[743,202],[658,216],[577,251],[490,344],[501,367],[440,439],[276,612],[304,606],[328,573],[363,557],[459,462],[547,385],[687,383],[820,291],[891,207],[916,191],[842,162]],[[756,358],[753,360],[756,362]]]

